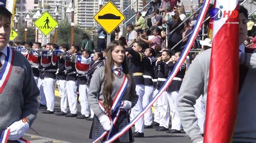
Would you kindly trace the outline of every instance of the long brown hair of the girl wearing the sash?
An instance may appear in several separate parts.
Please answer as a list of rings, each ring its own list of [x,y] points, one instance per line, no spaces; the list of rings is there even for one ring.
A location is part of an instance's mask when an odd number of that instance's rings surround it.
[[[105,63],[105,71],[104,71],[104,87],[103,87],[103,97],[104,97],[104,108],[106,111],[110,111],[111,107],[112,107],[112,92],[113,92],[113,81],[114,81],[114,75],[113,75],[113,70],[112,70],[112,66],[113,66],[113,60],[112,60],[112,55],[111,52],[117,47],[117,46],[122,46],[124,49],[124,45],[119,42],[119,41],[113,41],[111,42],[108,46],[107,46],[107,52],[106,52],[106,63]],[[124,58],[124,61],[122,63],[123,66],[123,72],[125,74],[125,76],[128,78],[129,80],[129,84],[131,87],[131,75],[130,75],[130,71],[129,71],[129,66],[126,60],[126,56]],[[130,94],[131,96],[131,94]]]

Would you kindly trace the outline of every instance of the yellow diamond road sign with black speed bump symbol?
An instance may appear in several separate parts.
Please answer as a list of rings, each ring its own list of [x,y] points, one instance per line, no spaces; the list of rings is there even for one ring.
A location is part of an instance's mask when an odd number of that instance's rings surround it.
[[[125,16],[116,8],[116,6],[114,6],[112,2],[107,2],[93,18],[107,33],[110,34],[120,23],[124,21]]]

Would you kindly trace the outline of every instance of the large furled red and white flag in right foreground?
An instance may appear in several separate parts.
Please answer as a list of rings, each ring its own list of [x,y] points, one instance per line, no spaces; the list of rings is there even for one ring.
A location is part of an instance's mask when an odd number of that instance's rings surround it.
[[[238,0],[215,0],[211,12],[214,24],[204,142],[230,142],[238,108]]]

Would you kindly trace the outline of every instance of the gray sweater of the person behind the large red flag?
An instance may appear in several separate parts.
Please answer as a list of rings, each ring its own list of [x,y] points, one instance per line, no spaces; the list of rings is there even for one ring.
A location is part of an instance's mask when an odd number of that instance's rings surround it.
[[[245,63],[250,69],[239,92],[238,118],[233,141],[256,141],[256,124],[254,123],[256,120],[256,69],[253,68],[255,67],[255,65],[253,66],[255,61],[249,60],[253,60],[255,57],[252,54],[248,55],[247,60],[244,54],[240,58],[241,63]],[[179,90],[177,109],[184,131],[193,142],[203,139],[200,128],[197,125],[198,121],[194,113],[194,104],[196,104],[196,99],[200,95],[203,95],[206,103],[210,58],[211,49],[207,49],[194,59]]]

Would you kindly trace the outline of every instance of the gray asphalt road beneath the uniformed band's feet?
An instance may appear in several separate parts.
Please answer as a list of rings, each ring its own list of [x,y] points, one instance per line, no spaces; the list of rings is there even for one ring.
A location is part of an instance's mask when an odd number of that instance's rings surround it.
[[[56,108],[60,109],[60,98],[56,97]],[[92,121],[72,117],[46,115],[39,109],[37,119],[32,125],[36,131],[30,130],[25,134],[25,139],[31,142],[92,142],[89,133]],[[80,111],[80,104],[78,104]],[[80,113],[80,112],[78,112]],[[134,128],[133,128],[134,131]],[[154,128],[145,129],[145,138],[134,138],[135,142],[191,142],[185,133],[170,134],[158,132]]]

